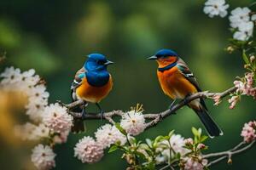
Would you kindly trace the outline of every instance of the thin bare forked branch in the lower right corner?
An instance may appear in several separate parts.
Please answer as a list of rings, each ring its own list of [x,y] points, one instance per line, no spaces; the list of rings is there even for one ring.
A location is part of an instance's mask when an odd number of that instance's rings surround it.
[[[254,140],[252,143],[247,144],[244,147],[241,147],[244,144],[246,144],[246,143],[245,142],[241,142],[240,144],[237,144],[234,148],[232,148],[230,150],[204,155],[203,158],[218,157],[217,159],[209,162],[207,167],[210,167],[210,166],[218,163],[219,161],[223,161],[225,158],[228,158],[231,161],[231,157],[232,156],[240,154],[240,153],[242,153],[242,152],[244,152],[246,150],[249,150],[250,148],[253,147],[253,145],[256,144],[256,142]]]

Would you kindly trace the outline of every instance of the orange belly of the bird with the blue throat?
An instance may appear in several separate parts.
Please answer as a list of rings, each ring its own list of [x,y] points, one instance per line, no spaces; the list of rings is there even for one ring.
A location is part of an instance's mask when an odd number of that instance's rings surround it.
[[[76,89],[76,94],[80,99],[89,101],[90,103],[99,103],[104,99],[113,87],[112,77],[109,77],[108,83],[102,87],[91,86],[86,77],[84,77],[82,84]]]

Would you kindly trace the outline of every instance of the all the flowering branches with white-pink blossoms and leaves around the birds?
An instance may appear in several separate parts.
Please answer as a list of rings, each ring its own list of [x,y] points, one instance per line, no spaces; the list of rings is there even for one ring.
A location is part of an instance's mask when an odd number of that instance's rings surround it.
[[[253,3],[252,5],[254,5]],[[252,5],[250,7],[252,7]],[[220,16],[224,18],[230,7],[224,0],[208,0],[203,9],[211,18]],[[55,145],[67,141],[67,136],[73,127],[73,119],[99,120],[106,119],[111,124],[99,127],[95,138],[84,136],[74,146],[74,156],[83,163],[96,163],[104,155],[121,150],[121,158],[127,161],[127,170],[154,170],[154,169],[180,169],[203,170],[241,154],[255,146],[256,121],[247,122],[241,130],[242,142],[230,150],[204,154],[208,149],[205,143],[207,136],[201,133],[201,128],[192,127],[193,139],[184,139],[172,130],[168,135],[159,135],[155,139],[138,141],[136,136],[150,127],[155,127],[167,116],[172,116],[184,105],[194,99],[213,99],[214,105],[219,105],[224,97],[230,95],[228,102],[230,109],[234,109],[243,95],[256,99],[256,42],[253,40],[253,29],[256,14],[250,8],[235,8],[230,12],[230,45],[226,50],[231,54],[234,51],[241,53],[246,69],[243,77],[236,77],[234,87],[222,93],[199,92],[173,105],[170,110],[159,113],[143,114],[142,105],[136,105],[131,111],[108,111],[102,116],[98,113],[88,113],[82,118],[80,112],[74,108],[84,105],[83,101],[63,104],[57,101],[49,104],[49,93],[45,83],[35,74],[35,71],[20,71],[18,68],[6,68],[0,74],[0,92],[11,94],[13,98],[20,97],[26,100],[25,113],[28,121],[15,127],[15,134],[23,140],[38,142],[32,149],[32,162],[38,169],[51,169],[55,167]],[[4,58],[0,58],[0,62]],[[119,117],[119,122],[114,119]],[[115,121],[114,121],[115,120]]]

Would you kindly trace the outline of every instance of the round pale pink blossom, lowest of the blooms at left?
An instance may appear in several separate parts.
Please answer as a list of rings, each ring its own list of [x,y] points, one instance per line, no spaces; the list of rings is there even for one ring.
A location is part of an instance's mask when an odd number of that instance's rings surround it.
[[[55,153],[48,145],[38,144],[32,150],[32,162],[39,170],[48,170],[55,167]]]

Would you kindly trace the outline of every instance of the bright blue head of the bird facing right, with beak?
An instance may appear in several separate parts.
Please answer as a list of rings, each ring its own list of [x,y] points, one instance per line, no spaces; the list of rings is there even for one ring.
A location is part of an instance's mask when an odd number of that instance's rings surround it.
[[[87,71],[107,71],[107,66],[112,64],[113,62],[108,60],[103,54],[89,54],[84,68]]]

